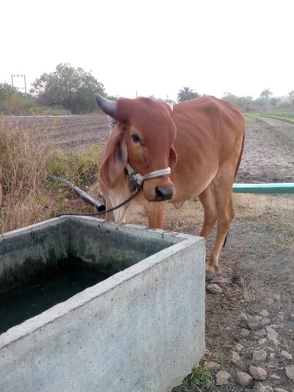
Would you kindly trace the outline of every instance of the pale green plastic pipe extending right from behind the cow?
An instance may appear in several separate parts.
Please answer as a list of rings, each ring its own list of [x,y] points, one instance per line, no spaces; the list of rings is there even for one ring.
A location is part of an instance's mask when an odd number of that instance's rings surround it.
[[[294,194],[294,183],[280,184],[233,184],[234,193],[288,193]]]

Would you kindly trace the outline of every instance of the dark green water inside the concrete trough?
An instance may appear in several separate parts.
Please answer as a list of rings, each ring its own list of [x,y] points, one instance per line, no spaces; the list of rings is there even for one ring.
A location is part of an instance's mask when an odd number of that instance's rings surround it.
[[[69,264],[0,293],[0,334],[109,276],[81,265]]]

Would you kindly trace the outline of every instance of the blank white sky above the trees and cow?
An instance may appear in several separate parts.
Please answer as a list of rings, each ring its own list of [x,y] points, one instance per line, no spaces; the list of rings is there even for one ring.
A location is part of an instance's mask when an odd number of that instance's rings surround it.
[[[183,86],[219,98],[288,95],[293,11],[293,0],[4,0],[0,82],[25,73],[29,89],[70,63],[128,98],[175,100]]]

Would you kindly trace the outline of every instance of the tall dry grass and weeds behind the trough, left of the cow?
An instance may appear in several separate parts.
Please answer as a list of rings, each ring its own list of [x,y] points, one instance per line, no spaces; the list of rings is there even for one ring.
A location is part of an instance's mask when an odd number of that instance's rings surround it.
[[[50,183],[47,175],[65,175],[75,184],[88,185],[88,192],[95,194],[98,184],[93,182],[97,182],[99,159],[99,148],[70,156],[51,150],[41,127],[7,129],[1,124],[0,232],[47,220],[60,212],[93,212],[71,190]]]

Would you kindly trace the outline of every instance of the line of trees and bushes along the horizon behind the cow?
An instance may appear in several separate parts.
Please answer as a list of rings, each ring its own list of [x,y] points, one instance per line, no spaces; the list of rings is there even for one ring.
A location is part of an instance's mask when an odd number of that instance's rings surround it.
[[[52,73],[43,73],[32,83],[28,94],[21,93],[8,83],[0,83],[0,113],[5,114],[39,114],[39,108],[54,108],[66,113],[86,114],[98,110],[95,93],[108,99],[116,99],[106,94],[101,82],[82,68],[73,68],[70,64],[58,64]],[[178,91],[177,102],[205,96],[199,94],[191,86]],[[155,99],[155,97],[149,96]],[[160,98],[158,98],[160,99]],[[230,92],[223,94],[222,99],[231,102],[242,111],[267,110],[268,102],[274,108],[291,109],[294,107],[294,90],[288,97],[274,97],[269,88],[264,89],[260,97],[238,97]],[[44,110],[43,110],[44,111]]]

